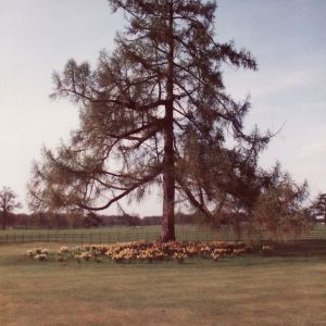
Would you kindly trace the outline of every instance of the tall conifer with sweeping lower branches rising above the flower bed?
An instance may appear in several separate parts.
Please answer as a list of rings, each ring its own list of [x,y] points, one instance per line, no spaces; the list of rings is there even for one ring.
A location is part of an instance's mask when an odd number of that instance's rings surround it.
[[[30,206],[98,211],[162,185],[161,241],[175,239],[176,202],[206,220],[248,209],[269,137],[243,133],[250,104],[227,95],[222,65],[256,70],[250,52],[215,39],[215,1],[109,3],[128,25],[95,70],[70,60],[54,74],[53,97],[78,104],[80,127],[35,164]]]

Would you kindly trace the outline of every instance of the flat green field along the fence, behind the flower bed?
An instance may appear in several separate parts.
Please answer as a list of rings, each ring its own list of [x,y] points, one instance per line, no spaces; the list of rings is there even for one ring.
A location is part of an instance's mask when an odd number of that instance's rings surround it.
[[[91,229],[7,229],[0,230],[0,244],[12,242],[75,242],[75,243],[102,243],[131,240],[154,241],[159,238],[160,226],[140,227],[102,227]],[[200,225],[177,225],[177,240],[236,240],[237,236],[230,228],[222,227],[212,230]],[[254,239],[253,237],[251,239]],[[292,239],[299,239],[293,235]],[[259,239],[259,238],[256,238]],[[306,239],[326,240],[326,226],[315,225],[306,235]]]

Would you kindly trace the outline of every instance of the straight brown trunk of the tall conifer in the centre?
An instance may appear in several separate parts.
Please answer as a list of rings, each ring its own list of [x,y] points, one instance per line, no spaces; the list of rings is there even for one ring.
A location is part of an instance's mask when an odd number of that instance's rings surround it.
[[[164,122],[164,167],[163,167],[163,216],[161,224],[160,242],[175,240],[174,230],[174,202],[175,202],[175,158],[174,158],[174,133],[173,133],[173,76],[174,76],[174,37],[173,37],[173,1],[170,3],[170,51],[167,54],[167,78]]]

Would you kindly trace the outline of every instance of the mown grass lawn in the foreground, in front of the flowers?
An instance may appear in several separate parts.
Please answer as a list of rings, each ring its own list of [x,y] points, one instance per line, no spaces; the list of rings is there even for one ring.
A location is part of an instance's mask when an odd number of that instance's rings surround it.
[[[27,248],[0,247],[3,326],[325,325],[325,255],[78,265]]]

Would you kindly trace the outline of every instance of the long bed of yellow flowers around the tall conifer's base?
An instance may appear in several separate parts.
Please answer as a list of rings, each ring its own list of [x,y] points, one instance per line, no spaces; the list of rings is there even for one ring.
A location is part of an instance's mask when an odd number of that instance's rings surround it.
[[[115,263],[133,262],[160,262],[175,260],[178,263],[185,262],[191,258],[204,258],[218,261],[222,258],[252,253],[252,247],[243,242],[146,242],[133,241],[115,244],[84,244],[68,248],[61,247],[57,252],[49,252],[45,248],[35,248],[27,250],[29,259],[37,261],[48,261],[55,259],[59,262],[76,260],[78,263],[95,261],[101,263],[104,260],[111,260]],[[271,253],[273,249],[269,246],[263,246],[259,249],[262,253]]]

